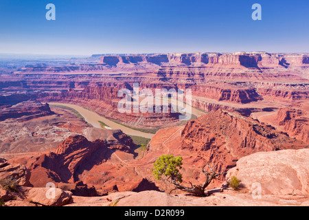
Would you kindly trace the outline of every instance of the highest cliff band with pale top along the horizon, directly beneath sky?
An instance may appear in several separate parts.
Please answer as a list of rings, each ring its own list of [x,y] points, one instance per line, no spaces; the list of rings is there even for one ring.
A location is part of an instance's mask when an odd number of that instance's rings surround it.
[[[152,63],[156,65],[238,65],[243,67],[306,66],[308,54],[268,54],[266,52],[236,52],[233,54],[192,53],[128,56],[101,56],[100,64],[116,66],[123,63]]]

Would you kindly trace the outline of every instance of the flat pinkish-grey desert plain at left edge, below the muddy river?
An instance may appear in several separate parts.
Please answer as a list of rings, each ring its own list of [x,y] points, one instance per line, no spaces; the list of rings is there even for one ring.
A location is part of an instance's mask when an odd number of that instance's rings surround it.
[[[31,109],[31,104],[28,107]],[[52,111],[53,115],[31,120],[13,118],[1,121],[0,157],[12,159],[27,153],[40,155],[54,150],[70,135],[84,134],[84,129],[89,128],[89,124],[70,110],[52,107]]]

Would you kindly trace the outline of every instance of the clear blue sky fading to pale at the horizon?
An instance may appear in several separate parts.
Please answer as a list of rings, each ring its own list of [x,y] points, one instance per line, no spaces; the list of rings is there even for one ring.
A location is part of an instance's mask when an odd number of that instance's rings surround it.
[[[309,52],[308,25],[308,0],[1,0],[0,53]]]

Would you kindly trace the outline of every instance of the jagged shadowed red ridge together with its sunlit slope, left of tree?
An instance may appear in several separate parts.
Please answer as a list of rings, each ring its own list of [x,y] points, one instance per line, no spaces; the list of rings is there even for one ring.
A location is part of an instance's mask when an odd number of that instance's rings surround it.
[[[102,132],[113,137],[107,135],[106,139],[93,142],[81,135],[68,137],[56,151],[37,157],[30,166],[32,185],[43,187],[55,182],[60,188],[84,196],[157,189],[137,175],[134,167],[122,166],[119,161],[120,157],[133,159],[132,139],[122,131]]]

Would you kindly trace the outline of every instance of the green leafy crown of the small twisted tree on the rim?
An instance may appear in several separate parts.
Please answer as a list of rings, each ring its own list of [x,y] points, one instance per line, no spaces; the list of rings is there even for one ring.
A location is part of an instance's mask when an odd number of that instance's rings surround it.
[[[161,179],[162,175],[165,177],[171,177],[172,181],[178,181],[181,183],[183,181],[179,169],[181,169],[183,157],[174,157],[174,155],[162,155],[155,162],[152,168],[152,174],[155,179]]]

